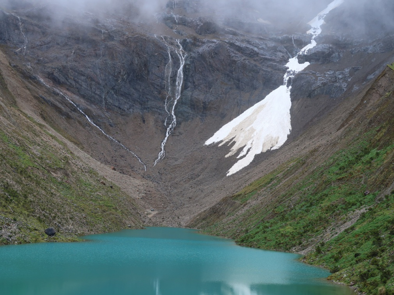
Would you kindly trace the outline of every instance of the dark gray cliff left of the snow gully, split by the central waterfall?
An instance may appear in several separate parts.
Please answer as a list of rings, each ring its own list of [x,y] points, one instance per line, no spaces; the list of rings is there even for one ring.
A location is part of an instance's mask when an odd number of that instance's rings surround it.
[[[164,42],[161,36],[146,32],[129,34],[128,30],[137,28],[135,24],[124,25],[122,21],[116,25],[97,24],[95,18],[83,24],[66,18],[61,27],[52,26],[51,22],[42,25],[46,13],[49,12],[43,10],[21,15],[22,30],[29,43],[26,55],[19,50],[16,58],[29,62],[43,78],[90,104],[130,114],[157,112],[164,115],[168,49],[172,59],[172,84],[179,68],[174,38]],[[4,13],[2,18],[0,41],[16,51],[24,42],[18,18]],[[175,22],[171,15],[164,16],[163,20],[172,21],[173,25]],[[201,17],[179,17],[177,21],[196,30],[197,35],[220,30],[214,22]],[[221,116],[225,116],[234,103],[244,109],[282,83],[288,59],[284,46],[293,47],[286,44],[292,42],[291,39],[271,41],[225,34],[221,39],[212,40],[200,39],[197,35],[180,40],[186,51],[183,96],[178,106],[180,122],[196,116],[203,118],[206,112],[217,109],[223,99],[229,101],[230,106],[224,106]],[[251,93],[250,100],[241,99]]]

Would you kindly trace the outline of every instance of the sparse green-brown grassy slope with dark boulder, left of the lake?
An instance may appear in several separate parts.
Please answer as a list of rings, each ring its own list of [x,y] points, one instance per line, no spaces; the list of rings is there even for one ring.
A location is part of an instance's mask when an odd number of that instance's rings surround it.
[[[0,244],[141,227],[133,198],[59,138],[17,107],[0,73]],[[55,237],[46,236],[48,227]]]

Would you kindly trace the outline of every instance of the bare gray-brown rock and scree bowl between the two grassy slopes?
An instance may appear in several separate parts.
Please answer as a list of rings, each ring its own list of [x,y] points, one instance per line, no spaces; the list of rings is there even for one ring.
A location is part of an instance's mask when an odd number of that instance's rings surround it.
[[[155,208],[154,213],[159,212],[156,216],[167,204],[168,212],[183,210],[187,203],[194,208],[188,215],[203,210],[215,196],[230,196],[245,181],[251,181],[247,177],[257,177],[263,171],[257,170],[260,163],[281,153],[275,150],[259,155],[251,166],[228,180],[226,172],[235,160],[225,157],[231,145],[206,148],[203,144],[283,84],[289,58],[310,43],[306,22],[316,14],[291,20],[278,14],[277,20],[262,17],[263,22],[259,22],[259,12],[245,7],[247,13],[210,18],[199,13],[199,1],[185,0],[168,2],[167,9],[156,18],[150,15],[151,20],[133,9],[96,15],[67,11],[58,17],[53,12],[59,7],[26,9],[15,4],[18,2],[12,1],[9,10],[15,10],[15,15],[0,10],[1,51],[36,96],[32,102],[36,114],[75,139],[101,163],[116,166],[121,174],[144,177],[157,186],[165,201],[149,205],[141,201],[144,208]],[[323,3],[326,1],[308,2],[327,5]],[[338,101],[365,89],[362,84],[379,75],[381,67],[393,59],[394,31],[373,37],[348,34],[342,27],[347,28],[354,18],[342,22],[344,11],[338,8],[330,12],[322,34],[316,38],[318,46],[299,56],[300,62],[311,65],[292,81],[289,141],[326,116]],[[347,13],[351,15],[351,11]],[[168,127],[168,122],[164,126],[168,115],[164,103],[168,95],[174,97],[180,66],[178,40],[185,65],[181,96],[174,108],[177,126],[168,137],[166,157],[152,167]],[[94,128],[75,106],[39,83],[38,75],[72,98],[103,131],[135,152],[147,171]],[[232,188],[228,190],[229,184]],[[158,195],[148,194],[147,199],[159,199]],[[180,225],[176,215],[171,225]]]

